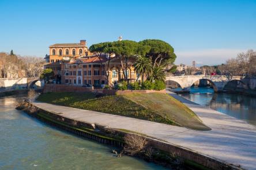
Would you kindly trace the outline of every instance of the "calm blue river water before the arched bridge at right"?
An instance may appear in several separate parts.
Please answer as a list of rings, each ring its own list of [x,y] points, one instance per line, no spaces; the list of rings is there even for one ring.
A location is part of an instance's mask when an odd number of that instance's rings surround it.
[[[209,87],[191,87],[189,94],[180,95],[199,105],[256,125],[256,98],[239,94],[214,93]]]

